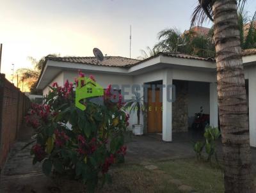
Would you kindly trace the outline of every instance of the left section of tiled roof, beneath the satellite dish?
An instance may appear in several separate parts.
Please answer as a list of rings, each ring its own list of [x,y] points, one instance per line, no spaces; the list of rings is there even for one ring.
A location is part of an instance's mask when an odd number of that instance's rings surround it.
[[[47,57],[47,60],[61,61],[69,63],[80,63],[85,65],[99,65],[99,66],[115,66],[126,67],[138,63],[140,60],[132,58],[124,58],[120,56],[106,56],[103,61],[98,61],[95,57]]]

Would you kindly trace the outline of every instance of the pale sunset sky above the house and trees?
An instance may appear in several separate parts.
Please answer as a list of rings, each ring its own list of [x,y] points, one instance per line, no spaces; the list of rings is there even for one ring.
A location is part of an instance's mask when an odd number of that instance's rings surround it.
[[[93,56],[98,47],[108,56],[141,56],[157,42],[162,29],[189,29],[197,0],[0,0],[1,73],[11,79],[12,64],[33,68],[28,57],[48,54]],[[248,0],[250,15],[256,2]],[[211,26],[207,22],[204,26]]]

